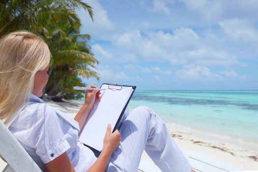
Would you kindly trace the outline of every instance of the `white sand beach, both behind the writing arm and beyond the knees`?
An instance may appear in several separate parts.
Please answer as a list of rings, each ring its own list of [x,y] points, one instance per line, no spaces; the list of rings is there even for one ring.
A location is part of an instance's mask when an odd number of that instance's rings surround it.
[[[74,118],[83,102],[69,100],[47,103]],[[227,136],[198,131],[174,123],[166,123],[166,125],[184,153],[202,153],[241,170],[258,170],[258,146],[254,143],[234,140]]]

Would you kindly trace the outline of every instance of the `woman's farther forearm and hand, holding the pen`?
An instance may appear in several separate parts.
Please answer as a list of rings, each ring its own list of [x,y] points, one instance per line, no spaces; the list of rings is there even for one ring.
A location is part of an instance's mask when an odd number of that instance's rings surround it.
[[[100,99],[101,92],[99,89],[97,89],[96,86],[89,85],[90,88],[95,88],[93,90],[86,90],[85,91],[85,102],[83,107],[80,109],[78,114],[75,116],[74,120],[76,120],[79,123],[80,130],[83,128],[86,119],[93,108],[95,99]]]

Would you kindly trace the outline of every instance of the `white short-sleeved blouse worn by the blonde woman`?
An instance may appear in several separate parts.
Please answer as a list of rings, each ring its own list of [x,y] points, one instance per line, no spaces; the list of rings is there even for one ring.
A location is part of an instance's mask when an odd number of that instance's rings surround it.
[[[76,172],[86,172],[96,161],[93,152],[78,142],[78,122],[37,96],[31,94],[15,116],[7,127],[42,171],[44,164],[65,151]]]

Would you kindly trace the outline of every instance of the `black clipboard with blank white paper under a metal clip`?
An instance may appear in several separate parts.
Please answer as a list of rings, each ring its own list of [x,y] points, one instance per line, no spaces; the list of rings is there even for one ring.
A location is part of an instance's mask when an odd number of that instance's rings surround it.
[[[105,90],[101,91],[101,99],[95,100],[94,106],[79,135],[79,142],[89,147],[96,157],[102,151],[108,123],[111,123],[112,132],[114,132],[136,86],[104,83],[100,89]]]

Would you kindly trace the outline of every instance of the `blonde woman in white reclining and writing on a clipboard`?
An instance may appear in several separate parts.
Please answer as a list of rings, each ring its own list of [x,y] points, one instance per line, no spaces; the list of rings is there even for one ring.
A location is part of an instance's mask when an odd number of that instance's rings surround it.
[[[163,172],[190,172],[191,166],[172,140],[164,122],[148,107],[139,107],[111,133],[107,126],[103,150],[96,158],[78,142],[78,134],[100,99],[95,88],[74,119],[40,98],[48,82],[50,51],[28,31],[0,39],[0,119],[43,171],[135,172],[143,149]],[[93,131],[94,132],[94,131]]]

